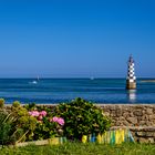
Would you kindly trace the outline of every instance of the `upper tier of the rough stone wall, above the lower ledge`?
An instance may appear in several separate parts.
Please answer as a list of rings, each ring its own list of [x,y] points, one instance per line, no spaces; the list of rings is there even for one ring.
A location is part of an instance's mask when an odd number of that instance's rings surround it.
[[[113,126],[155,126],[155,104],[100,105]]]

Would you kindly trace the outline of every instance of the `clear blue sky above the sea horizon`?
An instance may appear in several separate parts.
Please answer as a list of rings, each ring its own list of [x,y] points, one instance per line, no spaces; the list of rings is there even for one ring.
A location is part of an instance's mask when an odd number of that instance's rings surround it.
[[[155,78],[154,0],[1,0],[0,78]]]

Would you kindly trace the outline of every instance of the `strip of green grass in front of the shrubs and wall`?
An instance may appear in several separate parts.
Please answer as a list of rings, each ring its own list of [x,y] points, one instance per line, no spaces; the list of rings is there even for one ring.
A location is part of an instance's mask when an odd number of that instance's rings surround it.
[[[154,144],[82,144],[66,143],[52,146],[4,147],[0,155],[155,155]]]

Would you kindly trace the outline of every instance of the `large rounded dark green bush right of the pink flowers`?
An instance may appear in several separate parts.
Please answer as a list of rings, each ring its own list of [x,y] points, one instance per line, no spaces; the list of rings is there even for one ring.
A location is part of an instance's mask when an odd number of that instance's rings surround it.
[[[75,140],[81,140],[82,135],[102,134],[111,124],[101,107],[82,99],[58,105],[53,115],[64,118],[64,136]]]

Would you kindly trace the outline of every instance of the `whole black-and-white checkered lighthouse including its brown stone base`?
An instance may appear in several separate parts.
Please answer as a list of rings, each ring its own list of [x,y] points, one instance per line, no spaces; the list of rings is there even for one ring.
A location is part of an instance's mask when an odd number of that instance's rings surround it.
[[[134,68],[134,60],[131,55],[128,59],[128,71],[127,71],[127,79],[126,79],[126,89],[127,90],[135,90],[136,89],[136,76],[135,76],[135,68]]]

